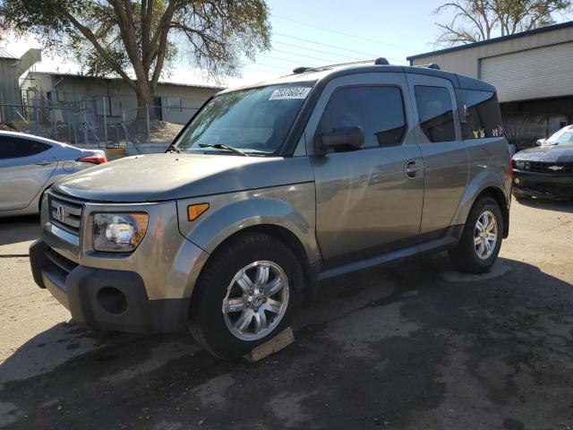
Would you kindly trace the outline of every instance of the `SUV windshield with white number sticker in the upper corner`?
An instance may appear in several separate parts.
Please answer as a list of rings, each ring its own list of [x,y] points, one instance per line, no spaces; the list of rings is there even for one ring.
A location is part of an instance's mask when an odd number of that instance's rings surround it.
[[[176,149],[227,154],[239,150],[247,155],[276,153],[311,89],[312,83],[305,82],[216,96],[177,139]]]

